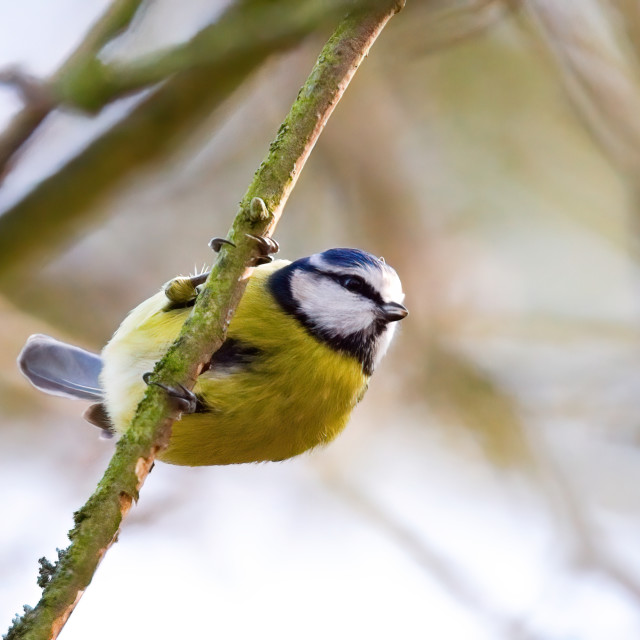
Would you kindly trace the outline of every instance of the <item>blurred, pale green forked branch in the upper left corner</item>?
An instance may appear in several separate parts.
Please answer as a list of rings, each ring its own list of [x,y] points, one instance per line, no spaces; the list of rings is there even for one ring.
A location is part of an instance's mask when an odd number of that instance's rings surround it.
[[[157,84],[172,74],[202,66],[211,68],[225,63],[233,66],[235,61],[250,56],[256,46],[264,50],[263,45],[267,42],[279,42],[281,48],[285,46],[284,40],[288,41],[288,46],[293,46],[328,18],[347,7],[365,5],[366,1],[265,3],[263,0],[242,0],[233,4],[221,20],[205,27],[184,44],[127,64],[105,64],[98,54],[129,26],[142,3],[142,0],[116,0],[52,78],[31,82],[47,99],[25,100],[23,111],[0,135],[0,184],[22,145],[55,108],[70,107],[97,113],[109,103]],[[266,51],[264,55],[271,52],[269,48]],[[203,84],[210,83],[210,75],[202,76]],[[16,75],[16,79],[13,82],[16,85],[27,80],[21,74]]]

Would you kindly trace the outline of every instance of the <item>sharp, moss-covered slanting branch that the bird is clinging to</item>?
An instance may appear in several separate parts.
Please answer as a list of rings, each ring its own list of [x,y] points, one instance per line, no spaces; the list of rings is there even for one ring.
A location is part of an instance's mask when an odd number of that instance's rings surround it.
[[[272,143],[240,203],[229,237],[180,336],[157,364],[154,379],[192,388],[211,354],[222,344],[250,269],[254,242],[247,233],[273,231],[284,204],[318,136],[349,81],[401,0],[370,3],[347,16],[322,50],[311,75]],[[265,206],[266,203],[266,206]],[[148,387],[127,432],[89,501],[76,512],[71,544],[55,566],[41,563],[42,598],[26,609],[7,640],[57,637],[109,546],[123,517],[137,500],[156,454],[167,446],[175,419],[165,392]]]

